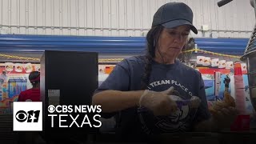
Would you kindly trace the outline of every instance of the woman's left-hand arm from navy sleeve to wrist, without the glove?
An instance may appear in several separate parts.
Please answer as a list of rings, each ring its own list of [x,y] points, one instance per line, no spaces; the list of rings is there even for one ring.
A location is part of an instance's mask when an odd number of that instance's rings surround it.
[[[114,66],[114,70],[101,86],[95,90],[92,104],[101,105],[103,113],[112,113],[138,106],[139,97],[144,90],[130,90],[130,64],[123,60]]]

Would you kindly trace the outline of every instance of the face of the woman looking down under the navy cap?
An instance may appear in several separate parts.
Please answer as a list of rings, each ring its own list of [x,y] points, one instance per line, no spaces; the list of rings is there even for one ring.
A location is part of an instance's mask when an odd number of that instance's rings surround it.
[[[169,64],[181,53],[185,46],[190,26],[177,26],[171,29],[164,28],[158,39],[158,50],[155,50],[156,61]]]

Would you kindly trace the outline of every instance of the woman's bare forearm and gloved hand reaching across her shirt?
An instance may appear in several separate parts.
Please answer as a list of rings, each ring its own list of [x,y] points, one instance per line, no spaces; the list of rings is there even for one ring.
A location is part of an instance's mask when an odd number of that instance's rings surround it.
[[[170,94],[174,91],[171,86],[164,91],[118,91],[105,90],[94,94],[93,104],[101,105],[102,112],[111,113],[119,110],[124,110],[134,106],[145,106],[152,110],[154,115],[169,115],[177,110],[177,104],[170,99]]]

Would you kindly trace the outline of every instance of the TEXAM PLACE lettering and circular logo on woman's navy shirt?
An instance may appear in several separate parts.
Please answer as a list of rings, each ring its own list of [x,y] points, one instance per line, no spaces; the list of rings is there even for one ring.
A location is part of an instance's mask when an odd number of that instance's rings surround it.
[[[190,98],[193,94],[189,87],[183,85],[174,79],[158,80],[150,82],[148,85],[149,90],[163,91],[170,86],[174,86],[180,98]],[[178,110],[166,116],[154,116],[153,112],[146,107],[138,107],[138,118],[142,124],[142,130],[146,134],[162,134],[170,132],[182,132],[190,129],[190,123],[194,119],[197,110],[190,109],[187,103],[178,104]]]

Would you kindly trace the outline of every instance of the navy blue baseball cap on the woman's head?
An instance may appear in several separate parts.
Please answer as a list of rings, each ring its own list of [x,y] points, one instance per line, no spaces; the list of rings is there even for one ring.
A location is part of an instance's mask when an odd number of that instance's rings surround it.
[[[166,28],[189,25],[194,34],[198,34],[193,26],[193,12],[189,6],[182,2],[169,2],[161,6],[154,14],[152,27],[162,25]]]

